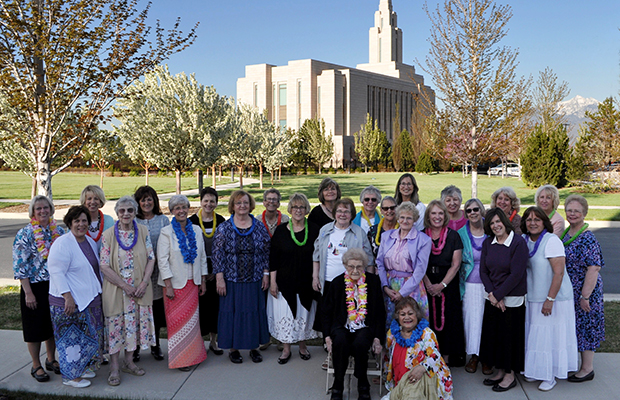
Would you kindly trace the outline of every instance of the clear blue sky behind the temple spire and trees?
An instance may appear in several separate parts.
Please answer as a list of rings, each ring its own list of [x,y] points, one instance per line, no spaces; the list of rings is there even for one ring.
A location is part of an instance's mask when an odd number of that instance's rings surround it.
[[[568,98],[618,97],[620,1],[498,3],[512,7],[502,44],[518,48],[520,75],[536,78],[550,67],[568,82]],[[392,0],[392,4],[403,30],[403,61],[416,65],[417,58],[424,63],[430,33],[424,2]],[[437,4],[428,2],[431,9]],[[283,65],[307,58],[348,67],[368,62],[368,29],[378,7],[379,0],[155,0],[150,17],[160,19],[166,28],[181,17],[184,30],[199,21],[198,39],[168,60],[170,72],[195,73],[200,83],[234,97],[245,65]],[[428,79],[426,83],[434,86]]]

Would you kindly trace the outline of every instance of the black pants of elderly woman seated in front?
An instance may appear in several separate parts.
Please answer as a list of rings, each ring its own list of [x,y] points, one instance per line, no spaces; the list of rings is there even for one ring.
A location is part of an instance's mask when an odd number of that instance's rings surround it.
[[[355,359],[353,375],[357,378],[358,388],[370,386],[366,373],[368,371],[368,350],[373,337],[370,328],[349,332],[346,328],[338,328],[331,332],[332,358],[334,360],[333,389],[344,390],[344,375],[349,364],[349,356]]]

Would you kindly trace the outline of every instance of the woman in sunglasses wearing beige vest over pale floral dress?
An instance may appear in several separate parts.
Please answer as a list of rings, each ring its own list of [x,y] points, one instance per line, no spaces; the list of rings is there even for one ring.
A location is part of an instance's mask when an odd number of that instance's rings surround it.
[[[133,352],[155,345],[151,274],[155,254],[149,230],[135,221],[138,203],[123,196],[114,206],[118,221],[103,232],[100,251],[103,282],[103,314],[108,332],[110,376],[108,384],[121,383],[120,372],[142,376],[144,369],[133,361]],[[120,351],[125,350],[123,365]]]

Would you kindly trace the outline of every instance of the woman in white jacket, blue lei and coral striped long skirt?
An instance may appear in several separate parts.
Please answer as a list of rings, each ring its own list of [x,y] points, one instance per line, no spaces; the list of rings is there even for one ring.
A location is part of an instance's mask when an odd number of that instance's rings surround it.
[[[168,325],[168,367],[189,371],[207,358],[198,322],[198,296],[207,290],[207,255],[204,246],[198,246],[200,227],[187,218],[187,197],[172,196],[168,208],[174,217],[162,228],[157,244],[158,283],[164,286]]]

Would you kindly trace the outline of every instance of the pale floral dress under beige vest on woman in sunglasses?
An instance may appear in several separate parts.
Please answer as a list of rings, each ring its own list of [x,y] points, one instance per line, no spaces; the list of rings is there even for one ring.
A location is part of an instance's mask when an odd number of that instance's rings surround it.
[[[133,243],[134,232],[119,231],[119,239],[124,246]],[[153,245],[149,235],[146,236],[146,251],[148,259],[153,260]],[[110,265],[110,244],[103,238],[101,246],[101,264]],[[133,273],[133,251],[118,249],[118,265],[121,278],[128,284],[134,286]],[[108,330],[109,353],[116,354],[122,349],[134,351],[138,346],[142,350],[155,346],[155,324],[153,321],[153,307],[140,306],[131,297],[123,292],[123,312],[119,315],[105,318],[105,325]]]

